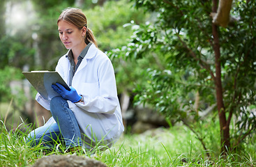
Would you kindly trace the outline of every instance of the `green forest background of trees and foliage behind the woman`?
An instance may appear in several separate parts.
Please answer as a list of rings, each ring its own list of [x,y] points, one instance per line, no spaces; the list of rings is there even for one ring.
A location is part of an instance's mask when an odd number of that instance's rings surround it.
[[[26,92],[22,71],[54,70],[66,53],[56,21],[68,6],[82,8],[112,59],[125,110],[144,104],[220,154],[255,140],[256,4],[242,0],[233,1],[225,26],[213,24],[216,0],[1,1],[0,113],[8,129],[38,119],[36,91]],[[212,125],[218,136],[208,136]]]

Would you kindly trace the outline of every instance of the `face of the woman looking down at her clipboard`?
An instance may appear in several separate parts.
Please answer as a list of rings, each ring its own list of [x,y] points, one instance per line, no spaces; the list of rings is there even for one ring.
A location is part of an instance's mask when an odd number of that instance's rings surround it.
[[[86,29],[78,29],[73,24],[70,24],[64,20],[60,20],[58,23],[59,38],[66,47],[66,49],[76,49],[84,45],[84,38]]]

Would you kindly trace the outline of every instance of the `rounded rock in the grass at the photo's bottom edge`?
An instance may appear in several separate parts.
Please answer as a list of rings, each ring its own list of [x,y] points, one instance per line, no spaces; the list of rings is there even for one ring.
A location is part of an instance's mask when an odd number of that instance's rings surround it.
[[[38,159],[32,167],[107,167],[103,162],[77,155],[50,155]]]

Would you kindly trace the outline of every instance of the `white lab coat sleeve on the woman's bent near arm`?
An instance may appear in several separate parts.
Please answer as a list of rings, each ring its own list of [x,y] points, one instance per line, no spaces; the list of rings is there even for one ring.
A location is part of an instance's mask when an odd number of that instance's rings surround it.
[[[84,86],[86,91],[82,92],[84,103],[78,102],[77,106],[91,113],[112,114],[119,106],[116,90],[116,79],[114,68],[109,58],[98,66],[98,86]]]

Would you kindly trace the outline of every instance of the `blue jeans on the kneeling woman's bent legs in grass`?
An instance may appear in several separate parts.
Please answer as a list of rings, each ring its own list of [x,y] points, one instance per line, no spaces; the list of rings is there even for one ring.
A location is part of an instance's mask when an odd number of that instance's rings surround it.
[[[80,128],[67,100],[61,96],[52,98],[50,111],[55,122],[50,118],[45,125],[30,132],[27,143],[31,142],[31,146],[43,143],[47,148],[54,148],[54,145],[64,141],[66,148],[81,146]]]

